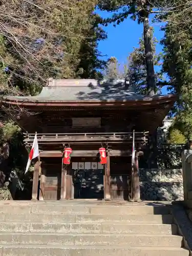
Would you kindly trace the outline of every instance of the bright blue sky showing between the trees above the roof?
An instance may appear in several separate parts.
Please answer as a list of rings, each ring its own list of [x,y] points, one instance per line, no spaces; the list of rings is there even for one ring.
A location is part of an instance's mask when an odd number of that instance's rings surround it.
[[[108,12],[97,11],[101,17],[106,18],[111,14]],[[152,18],[152,17],[151,17]],[[163,37],[163,31],[160,30],[160,24],[152,24],[154,27],[154,36],[161,40]],[[104,27],[104,30],[108,33],[106,40],[99,42],[98,50],[106,55],[103,58],[106,60],[109,57],[116,57],[120,63],[125,63],[129,54],[133,51],[134,47],[138,46],[139,38],[142,36],[143,26],[131,18],[127,18],[116,28],[113,24]],[[156,46],[157,53],[162,51],[162,46],[158,44]],[[166,94],[166,88],[162,89],[162,94]]]

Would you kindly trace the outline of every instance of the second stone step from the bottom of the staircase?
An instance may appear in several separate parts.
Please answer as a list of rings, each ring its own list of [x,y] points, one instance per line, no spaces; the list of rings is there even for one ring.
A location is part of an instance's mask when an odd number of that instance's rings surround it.
[[[182,237],[165,234],[58,234],[0,233],[1,244],[71,245],[71,246],[182,246]]]

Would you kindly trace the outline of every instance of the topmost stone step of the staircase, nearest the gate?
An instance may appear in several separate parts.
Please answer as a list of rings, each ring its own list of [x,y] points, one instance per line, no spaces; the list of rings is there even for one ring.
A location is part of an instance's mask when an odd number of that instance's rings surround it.
[[[0,204],[0,214],[103,214],[103,215],[166,215],[168,206],[153,205],[83,205],[83,204]]]

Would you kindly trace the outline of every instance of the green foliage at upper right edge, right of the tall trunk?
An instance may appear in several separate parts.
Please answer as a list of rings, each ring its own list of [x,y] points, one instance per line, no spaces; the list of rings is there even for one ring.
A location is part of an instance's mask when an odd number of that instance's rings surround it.
[[[175,13],[169,18],[170,22],[163,28],[165,34],[161,41],[164,47],[162,71],[167,73],[170,79],[169,90],[171,92],[188,94],[188,84],[192,81],[190,30],[187,28],[186,31],[181,30]],[[190,100],[190,98],[187,97],[187,100]]]

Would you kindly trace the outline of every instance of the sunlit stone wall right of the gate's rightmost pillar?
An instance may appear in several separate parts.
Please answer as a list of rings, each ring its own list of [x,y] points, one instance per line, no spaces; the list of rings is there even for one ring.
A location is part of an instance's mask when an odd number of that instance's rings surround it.
[[[183,200],[182,169],[139,169],[141,200]]]

